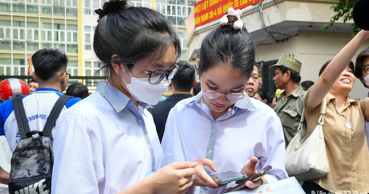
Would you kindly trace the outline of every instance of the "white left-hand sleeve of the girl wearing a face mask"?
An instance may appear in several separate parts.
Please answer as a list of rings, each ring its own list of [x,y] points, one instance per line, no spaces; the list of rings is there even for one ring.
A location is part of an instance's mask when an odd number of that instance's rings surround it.
[[[91,123],[82,115],[58,120],[54,130],[52,194],[99,194],[104,180],[103,147]]]

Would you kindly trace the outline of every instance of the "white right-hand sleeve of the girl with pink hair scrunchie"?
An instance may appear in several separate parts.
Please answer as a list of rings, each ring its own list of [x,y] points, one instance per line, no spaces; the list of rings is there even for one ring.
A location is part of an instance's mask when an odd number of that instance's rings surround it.
[[[268,183],[288,178],[285,167],[285,141],[282,124],[276,118],[266,133],[266,146],[260,157],[261,170],[271,165],[272,169],[264,176]]]

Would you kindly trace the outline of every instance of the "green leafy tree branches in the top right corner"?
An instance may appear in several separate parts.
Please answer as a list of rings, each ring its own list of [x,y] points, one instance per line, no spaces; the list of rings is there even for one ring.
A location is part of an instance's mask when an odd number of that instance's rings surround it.
[[[352,9],[354,8],[356,2],[358,0],[339,0],[337,4],[333,4],[331,9],[336,13],[332,18],[329,24],[325,24],[321,27],[321,30],[328,30],[329,27],[332,27],[335,21],[338,21],[340,18],[343,18],[344,23],[346,21],[352,20]],[[359,32],[359,27],[353,23],[352,34],[355,36]]]

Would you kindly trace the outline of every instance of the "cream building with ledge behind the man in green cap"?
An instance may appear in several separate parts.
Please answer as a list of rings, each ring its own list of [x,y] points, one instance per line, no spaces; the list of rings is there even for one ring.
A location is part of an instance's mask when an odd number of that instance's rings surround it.
[[[256,45],[256,63],[262,75],[262,85],[269,94],[276,90],[273,71],[268,67],[277,62],[282,54],[302,62],[301,82],[315,82],[320,68],[332,59],[352,38],[352,21],[338,21],[328,30],[321,30],[335,15],[331,6],[337,0],[265,0],[260,4],[242,9],[241,20]],[[193,18],[193,16],[189,16]],[[187,21],[190,24],[192,21]],[[195,60],[203,38],[216,26],[219,19],[200,27],[187,27],[188,60]],[[368,48],[369,41],[359,52]],[[358,53],[359,53],[358,52]],[[357,54],[358,54],[357,53]],[[355,61],[355,58],[353,61]],[[356,79],[350,97],[363,98],[368,90]]]

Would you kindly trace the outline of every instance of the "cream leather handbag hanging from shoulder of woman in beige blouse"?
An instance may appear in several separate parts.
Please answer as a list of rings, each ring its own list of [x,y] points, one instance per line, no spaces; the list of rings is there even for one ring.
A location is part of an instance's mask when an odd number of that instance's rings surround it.
[[[298,181],[314,180],[328,174],[328,159],[325,150],[323,124],[327,101],[324,98],[323,109],[314,131],[301,139],[302,123],[305,110],[301,115],[297,134],[293,137],[286,149],[286,171]]]

